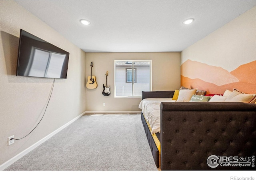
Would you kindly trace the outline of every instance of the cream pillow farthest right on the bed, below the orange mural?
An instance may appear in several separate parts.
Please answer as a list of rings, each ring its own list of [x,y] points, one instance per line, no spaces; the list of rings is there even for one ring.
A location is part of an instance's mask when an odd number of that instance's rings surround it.
[[[245,94],[234,89],[232,93],[228,95],[225,102],[246,102],[249,103],[254,100],[256,94]]]

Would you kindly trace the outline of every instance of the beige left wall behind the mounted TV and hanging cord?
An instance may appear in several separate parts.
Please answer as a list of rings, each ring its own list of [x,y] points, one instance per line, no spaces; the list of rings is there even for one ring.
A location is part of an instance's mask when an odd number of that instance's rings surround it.
[[[12,0],[0,0],[0,165],[32,146],[86,110],[85,52],[60,36]],[[22,138],[42,117],[53,79],[16,76],[20,29],[70,52],[67,79],[56,79],[46,114],[38,127]]]

